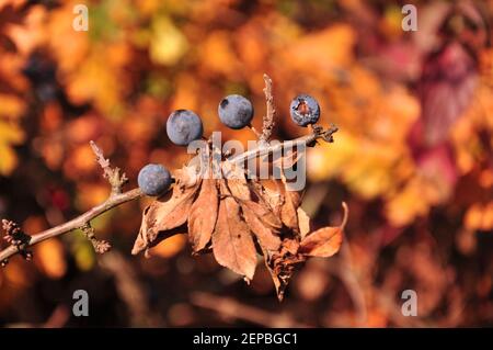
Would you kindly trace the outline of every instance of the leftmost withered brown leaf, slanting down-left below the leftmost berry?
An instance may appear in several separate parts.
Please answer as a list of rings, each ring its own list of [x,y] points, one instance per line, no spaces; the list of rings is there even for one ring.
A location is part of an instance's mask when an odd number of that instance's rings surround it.
[[[167,232],[185,224],[199,187],[200,180],[192,187],[182,188],[176,183],[171,199],[168,195],[162,195],[152,202],[144,211],[142,224],[131,253],[137,255],[150,247],[160,232]]]

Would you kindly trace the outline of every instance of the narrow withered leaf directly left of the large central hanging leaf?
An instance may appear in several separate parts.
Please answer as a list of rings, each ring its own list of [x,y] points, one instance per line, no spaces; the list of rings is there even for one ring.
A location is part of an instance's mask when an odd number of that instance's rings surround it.
[[[210,241],[218,215],[218,191],[216,180],[202,180],[200,192],[192,204],[188,217],[188,241],[195,252]]]

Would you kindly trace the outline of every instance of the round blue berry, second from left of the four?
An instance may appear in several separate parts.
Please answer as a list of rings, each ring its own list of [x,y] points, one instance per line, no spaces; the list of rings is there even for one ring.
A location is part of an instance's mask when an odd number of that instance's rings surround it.
[[[167,122],[167,134],[171,142],[179,146],[187,146],[199,139],[204,133],[200,117],[188,110],[177,110],[170,114]]]

